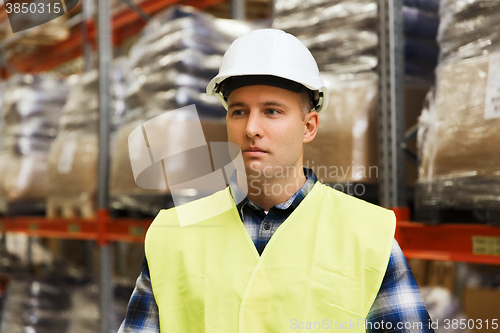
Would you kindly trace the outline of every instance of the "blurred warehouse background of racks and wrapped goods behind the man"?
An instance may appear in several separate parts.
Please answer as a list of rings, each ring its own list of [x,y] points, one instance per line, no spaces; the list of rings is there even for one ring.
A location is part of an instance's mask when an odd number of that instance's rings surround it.
[[[207,142],[226,141],[206,85],[236,38],[270,27],[311,50],[329,90],[305,165],[396,212],[437,332],[498,330],[500,1],[80,0],[15,33],[8,4],[0,332],[116,332],[147,227],[173,206],[135,184],[129,134],[195,104]],[[195,121],[169,118],[166,144]]]

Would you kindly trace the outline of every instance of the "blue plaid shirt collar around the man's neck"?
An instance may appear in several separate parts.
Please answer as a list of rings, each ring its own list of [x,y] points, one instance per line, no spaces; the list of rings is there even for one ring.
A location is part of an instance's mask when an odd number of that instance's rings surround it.
[[[294,195],[292,195],[287,201],[274,206],[273,208],[277,208],[280,210],[286,210],[290,207],[295,209],[301,202],[302,200],[306,197],[307,194],[311,191],[313,188],[314,184],[318,181],[318,178],[314,174],[314,172],[311,169],[308,169],[306,167],[304,168],[304,175],[306,176],[306,182],[302,187],[295,192]],[[236,172],[233,173],[231,178],[229,179],[229,190],[231,192],[231,195],[233,196],[233,200],[237,202],[236,198],[241,198],[243,197],[243,193],[239,189],[236,181]],[[262,207],[258,206],[254,202],[252,202],[250,199],[245,197],[241,202],[239,202],[236,207],[238,208],[238,211],[241,212],[242,208],[248,206],[252,210],[264,210]]]

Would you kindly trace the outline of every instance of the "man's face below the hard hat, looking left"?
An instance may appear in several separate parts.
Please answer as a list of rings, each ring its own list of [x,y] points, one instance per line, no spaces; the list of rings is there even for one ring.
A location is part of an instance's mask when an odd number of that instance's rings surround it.
[[[287,168],[302,168],[303,144],[311,137],[301,95],[266,85],[238,88],[228,98],[229,142],[237,144],[247,175],[273,178]],[[313,112],[316,114],[316,112]],[[315,115],[317,119],[317,114]],[[317,127],[317,126],[316,126]]]

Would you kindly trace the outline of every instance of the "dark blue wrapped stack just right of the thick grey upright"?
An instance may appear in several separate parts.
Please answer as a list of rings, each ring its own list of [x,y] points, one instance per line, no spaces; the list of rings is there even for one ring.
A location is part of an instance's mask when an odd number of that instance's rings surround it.
[[[405,73],[410,82],[434,83],[439,47],[439,0],[405,0]]]

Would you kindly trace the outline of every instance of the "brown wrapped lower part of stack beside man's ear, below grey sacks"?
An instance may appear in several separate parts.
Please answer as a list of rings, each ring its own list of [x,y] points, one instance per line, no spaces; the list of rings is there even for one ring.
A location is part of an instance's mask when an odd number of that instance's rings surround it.
[[[304,165],[325,183],[376,183],[378,80],[374,73],[322,76],[329,92]],[[349,112],[346,112],[349,110]]]

